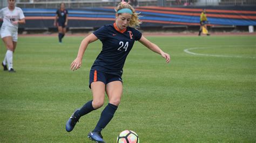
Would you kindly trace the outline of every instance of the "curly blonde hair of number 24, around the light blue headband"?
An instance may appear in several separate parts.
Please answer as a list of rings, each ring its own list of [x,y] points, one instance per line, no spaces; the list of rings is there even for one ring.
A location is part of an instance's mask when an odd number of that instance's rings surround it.
[[[132,10],[132,17],[129,23],[129,26],[131,27],[135,27],[135,26],[139,26],[140,24],[142,24],[142,22],[139,20],[139,13],[136,13],[136,11],[132,8],[132,6],[126,2],[120,2],[117,5],[117,8],[115,8],[114,10],[117,12],[120,9],[130,9]],[[118,15],[120,15],[120,13],[118,13]]]

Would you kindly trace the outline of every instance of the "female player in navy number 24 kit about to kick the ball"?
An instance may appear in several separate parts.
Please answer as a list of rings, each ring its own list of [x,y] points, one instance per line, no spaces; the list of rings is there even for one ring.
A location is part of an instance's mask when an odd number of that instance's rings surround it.
[[[72,131],[80,117],[103,106],[106,92],[109,104],[102,111],[95,129],[87,136],[91,140],[98,142],[104,142],[100,132],[113,118],[114,112],[116,112],[120,103],[123,91],[123,66],[134,41],[138,40],[153,52],[160,54],[166,59],[167,63],[170,61],[169,54],[163,52],[157,45],[147,40],[138,30],[130,27],[140,24],[138,13],[135,12],[130,4],[121,2],[115,10],[116,22],[100,27],[83,39],[77,58],[71,63],[70,67],[71,70],[80,68],[87,46],[98,39],[102,41],[102,51],[99,53],[90,71],[89,87],[92,90],[93,99],[84,104],[81,109],[73,112],[70,119],[66,122],[66,131]]]

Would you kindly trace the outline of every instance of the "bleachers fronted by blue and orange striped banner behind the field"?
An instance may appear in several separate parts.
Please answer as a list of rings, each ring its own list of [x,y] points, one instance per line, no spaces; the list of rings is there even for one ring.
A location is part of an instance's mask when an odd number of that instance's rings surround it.
[[[6,1],[0,1],[0,4],[1,2]],[[69,9],[69,30],[90,31],[113,21],[111,17],[114,13],[113,8],[96,7],[116,6],[120,0],[16,0],[16,2],[27,17],[26,25],[20,26],[25,31],[56,30],[52,24],[53,17],[61,2],[65,2],[66,9]],[[219,6],[213,6],[216,2]],[[163,5],[166,8],[156,7]],[[207,11],[207,15],[212,31],[233,31],[239,28],[246,30],[249,25],[256,25],[255,5],[256,0],[138,0],[135,6],[144,16],[143,24],[140,26],[144,30],[197,31],[201,9],[206,8],[210,10]],[[228,10],[238,11],[233,13]],[[239,11],[244,12],[239,13]],[[247,11],[251,12],[246,13]]]

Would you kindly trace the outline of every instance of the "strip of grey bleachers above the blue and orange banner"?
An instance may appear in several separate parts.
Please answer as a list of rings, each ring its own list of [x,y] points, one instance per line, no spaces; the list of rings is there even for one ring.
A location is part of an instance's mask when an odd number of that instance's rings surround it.
[[[21,8],[58,8],[66,3],[66,8],[116,6],[119,0],[16,0]],[[128,0],[126,0],[128,1]],[[256,5],[255,0],[138,0],[134,6],[209,6],[209,5]]]

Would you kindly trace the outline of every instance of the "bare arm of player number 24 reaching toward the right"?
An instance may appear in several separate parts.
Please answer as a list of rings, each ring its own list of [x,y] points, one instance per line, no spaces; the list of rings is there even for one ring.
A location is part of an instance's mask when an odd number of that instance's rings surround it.
[[[160,54],[163,58],[165,58],[167,63],[170,62],[171,60],[170,55],[163,52],[156,44],[153,44],[151,41],[147,40],[143,35],[142,35],[142,38],[139,39],[139,42],[142,43],[147,48],[151,49],[151,51]]]

